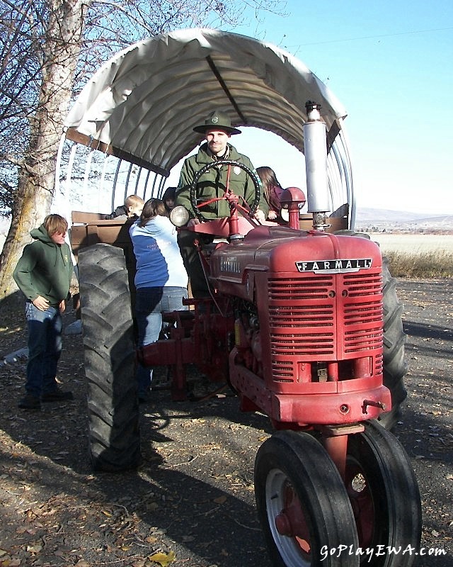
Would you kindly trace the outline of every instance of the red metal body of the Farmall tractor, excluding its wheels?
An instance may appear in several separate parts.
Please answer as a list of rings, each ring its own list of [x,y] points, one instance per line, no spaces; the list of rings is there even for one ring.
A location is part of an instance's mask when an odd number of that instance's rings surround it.
[[[229,198],[230,219],[191,229],[221,239],[205,260],[212,300],[188,301],[190,315],[168,315],[170,339],[145,347],[140,359],[173,366],[177,399],[185,364],[214,381],[228,378],[241,408],[265,412],[277,428],[346,425],[390,409],[379,247],[350,235],[253,228]],[[243,239],[227,242],[236,231]],[[325,446],[344,473],[345,442],[328,437]]]

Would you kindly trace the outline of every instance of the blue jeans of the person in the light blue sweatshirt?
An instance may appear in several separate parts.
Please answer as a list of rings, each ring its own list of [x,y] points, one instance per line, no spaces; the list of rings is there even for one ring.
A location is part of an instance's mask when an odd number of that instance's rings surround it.
[[[137,319],[137,346],[145,347],[159,339],[164,311],[187,310],[183,298],[188,297],[186,288],[138,288],[135,297],[135,317]],[[137,366],[139,397],[146,398],[151,386],[152,369],[141,364]]]

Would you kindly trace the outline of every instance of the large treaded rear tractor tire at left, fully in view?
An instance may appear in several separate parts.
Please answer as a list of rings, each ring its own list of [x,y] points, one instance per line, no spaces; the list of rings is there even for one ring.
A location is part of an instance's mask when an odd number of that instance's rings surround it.
[[[79,278],[91,462],[97,471],[137,468],[134,333],[122,249],[106,244],[81,249]]]

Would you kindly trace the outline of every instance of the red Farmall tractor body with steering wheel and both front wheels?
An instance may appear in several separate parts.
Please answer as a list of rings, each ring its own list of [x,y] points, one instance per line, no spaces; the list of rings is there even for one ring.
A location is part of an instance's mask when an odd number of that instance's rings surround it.
[[[228,380],[242,410],[270,417],[276,433],[256,456],[255,489],[275,565],[359,565],[365,549],[385,557],[374,565],[410,565],[412,558],[389,551],[418,548],[420,497],[403,448],[378,421],[391,410],[379,247],[300,230],[305,198],[296,188],[282,196],[284,227],[256,226],[238,216],[237,196],[225,198],[229,219],[185,229],[221,239],[199,249],[212,298],[168,314],[171,337],[144,347],[139,359],[172,367],[175,399],[185,398],[191,363]]]

